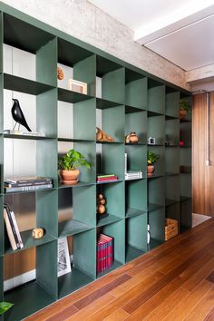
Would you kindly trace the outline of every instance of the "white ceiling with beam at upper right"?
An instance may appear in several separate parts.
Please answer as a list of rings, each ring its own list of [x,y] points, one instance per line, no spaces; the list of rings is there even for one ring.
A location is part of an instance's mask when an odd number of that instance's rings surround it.
[[[185,71],[214,63],[214,0],[89,1]]]

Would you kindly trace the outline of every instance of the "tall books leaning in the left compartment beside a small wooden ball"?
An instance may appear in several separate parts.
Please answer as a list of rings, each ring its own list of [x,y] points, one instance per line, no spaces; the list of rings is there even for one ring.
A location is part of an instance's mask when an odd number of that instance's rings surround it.
[[[18,225],[15,219],[15,213],[9,207],[4,205],[5,228],[9,238],[11,248],[15,251],[18,248],[24,248]]]

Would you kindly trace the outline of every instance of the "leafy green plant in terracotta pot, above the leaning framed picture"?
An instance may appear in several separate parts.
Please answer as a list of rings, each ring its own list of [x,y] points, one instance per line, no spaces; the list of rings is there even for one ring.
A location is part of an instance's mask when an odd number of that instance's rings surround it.
[[[58,160],[59,175],[63,184],[76,184],[80,175],[80,167],[91,169],[89,161],[85,160],[83,154],[74,149],[68,151]]]

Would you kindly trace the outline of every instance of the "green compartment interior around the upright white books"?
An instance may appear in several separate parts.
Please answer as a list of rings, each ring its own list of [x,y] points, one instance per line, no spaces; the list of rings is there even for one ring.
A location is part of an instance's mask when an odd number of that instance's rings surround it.
[[[125,146],[127,153],[127,170],[141,170],[142,177],[147,173],[147,146],[137,144],[127,144]]]

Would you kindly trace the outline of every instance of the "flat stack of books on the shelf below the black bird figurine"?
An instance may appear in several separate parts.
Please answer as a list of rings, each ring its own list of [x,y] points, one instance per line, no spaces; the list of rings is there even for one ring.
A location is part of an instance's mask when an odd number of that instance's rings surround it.
[[[5,192],[52,189],[53,182],[49,177],[12,178],[4,181]]]

